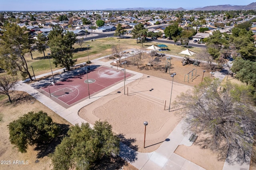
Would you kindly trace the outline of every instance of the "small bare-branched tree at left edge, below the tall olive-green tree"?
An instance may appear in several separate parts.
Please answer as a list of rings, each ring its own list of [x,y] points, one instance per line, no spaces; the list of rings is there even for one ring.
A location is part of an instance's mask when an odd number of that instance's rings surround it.
[[[5,75],[0,77],[0,94],[7,95],[9,102],[12,103],[10,93],[14,92],[18,84],[18,77]]]

